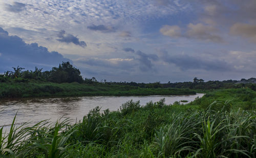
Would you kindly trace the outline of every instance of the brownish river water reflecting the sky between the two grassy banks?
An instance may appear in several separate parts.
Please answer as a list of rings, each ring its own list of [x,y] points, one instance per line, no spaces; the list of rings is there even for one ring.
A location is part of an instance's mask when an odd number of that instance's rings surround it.
[[[166,104],[181,100],[187,100],[187,103],[189,103],[196,97],[202,97],[203,95],[4,99],[0,100],[0,126],[8,128],[16,112],[15,124],[29,122],[32,125],[47,119],[56,121],[61,117],[73,119],[75,122],[76,119],[81,120],[84,115],[87,115],[96,106],[101,107],[101,110],[107,108],[118,110],[123,103],[129,100],[139,100],[141,105],[145,105],[147,102],[157,102],[162,98],[165,98]]]

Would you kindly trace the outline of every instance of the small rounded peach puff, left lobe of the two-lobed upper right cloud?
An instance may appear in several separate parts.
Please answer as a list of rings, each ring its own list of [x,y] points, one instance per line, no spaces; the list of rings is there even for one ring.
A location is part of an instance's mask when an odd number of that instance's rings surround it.
[[[161,29],[160,32],[165,35],[165,36],[170,36],[170,37],[181,37],[181,31],[180,27],[177,25],[174,26],[169,26],[169,25],[164,25]]]

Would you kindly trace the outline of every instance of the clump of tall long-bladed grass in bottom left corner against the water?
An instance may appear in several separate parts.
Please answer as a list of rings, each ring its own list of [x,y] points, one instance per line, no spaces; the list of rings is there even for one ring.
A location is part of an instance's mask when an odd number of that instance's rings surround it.
[[[75,131],[68,119],[55,125],[41,121],[30,127],[15,127],[15,119],[16,116],[9,132],[0,129],[0,157],[62,157],[69,147],[67,140]]]

